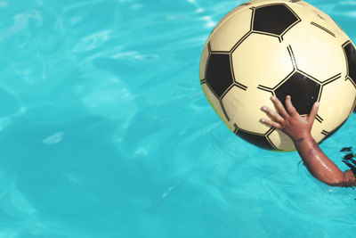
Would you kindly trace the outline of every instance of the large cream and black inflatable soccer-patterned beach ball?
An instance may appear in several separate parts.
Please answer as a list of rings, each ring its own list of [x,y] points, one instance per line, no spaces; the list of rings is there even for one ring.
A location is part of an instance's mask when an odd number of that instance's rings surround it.
[[[260,122],[271,95],[307,115],[320,102],[312,136],[320,143],[352,113],[356,51],[326,13],[303,1],[255,0],[239,5],[214,28],[200,62],[200,83],[227,127],[269,150],[293,151],[282,131]]]

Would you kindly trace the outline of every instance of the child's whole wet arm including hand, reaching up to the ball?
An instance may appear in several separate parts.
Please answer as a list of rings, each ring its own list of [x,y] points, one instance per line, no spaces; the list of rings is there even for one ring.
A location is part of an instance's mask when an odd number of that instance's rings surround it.
[[[320,150],[319,145],[312,138],[312,123],[317,115],[319,103],[314,103],[310,114],[307,117],[302,117],[295,110],[290,96],[286,97],[287,111],[277,97],[272,96],[271,100],[279,112],[277,113],[263,106],[262,110],[271,116],[273,121],[270,119],[261,119],[262,122],[279,128],[292,138],[296,150],[299,152],[304,165],[311,172],[312,176],[332,186],[356,185],[356,177],[352,171],[346,170],[343,173]]]

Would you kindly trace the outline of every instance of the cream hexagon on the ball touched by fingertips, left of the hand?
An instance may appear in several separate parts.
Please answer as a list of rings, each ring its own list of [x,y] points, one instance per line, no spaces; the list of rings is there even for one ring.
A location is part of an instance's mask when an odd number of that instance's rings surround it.
[[[231,125],[236,124],[240,129],[257,134],[266,133],[270,127],[260,122],[267,118],[261,108],[268,106],[273,108],[270,100],[271,93],[251,87],[242,90],[233,86],[223,97],[223,106],[231,119]]]

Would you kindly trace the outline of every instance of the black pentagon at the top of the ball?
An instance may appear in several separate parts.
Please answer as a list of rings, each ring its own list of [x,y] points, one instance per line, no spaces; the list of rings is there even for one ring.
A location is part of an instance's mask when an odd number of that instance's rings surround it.
[[[255,9],[254,30],[280,35],[298,18],[284,4],[267,5]]]

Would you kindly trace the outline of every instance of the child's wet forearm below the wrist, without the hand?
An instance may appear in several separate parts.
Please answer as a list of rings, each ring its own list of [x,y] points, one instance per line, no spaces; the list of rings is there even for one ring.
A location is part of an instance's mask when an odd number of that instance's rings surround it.
[[[350,170],[343,173],[336,164],[320,150],[319,145],[311,135],[295,140],[296,150],[299,152],[306,168],[321,182],[335,186],[356,185],[355,176]]]

